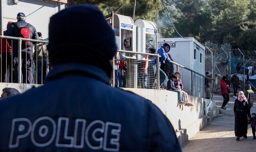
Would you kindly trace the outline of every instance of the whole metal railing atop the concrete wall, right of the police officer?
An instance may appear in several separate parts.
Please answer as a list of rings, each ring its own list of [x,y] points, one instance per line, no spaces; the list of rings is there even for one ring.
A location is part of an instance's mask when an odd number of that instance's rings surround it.
[[[115,79],[122,78],[122,82],[127,82],[127,84],[121,87],[126,88],[146,88],[146,89],[160,89],[160,72],[159,72],[159,55],[158,54],[149,54],[149,53],[140,53],[140,52],[131,52],[131,51],[124,51],[124,50],[118,50],[118,52],[121,53],[122,59],[120,61],[127,62],[127,76],[112,76],[112,85],[115,85]],[[148,56],[148,57],[146,57]],[[152,58],[154,58],[156,61],[156,65],[152,64]],[[117,59],[116,59],[117,60]],[[114,59],[112,62],[115,62]],[[148,62],[148,63],[147,63]],[[214,79],[208,78],[194,70],[191,70],[190,68],[187,68],[185,66],[182,66],[176,62],[171,61],[174,65],[176,65],[176,71],[180,72],[182,75],[182,82],[184,86],[184,91],[187,92],[189,95],[197,96],[197,97],[204,97],[204,78],[207,78],[208,80],[212,80],[214,84]],[[145,65],[146,70],[145,70]],[[115,65],[114,65],[115,66]],[[113,69],[115,67],[113,66]],[[154,72],[152,74],[152,71],[154,71],[154,66],[156,68],[156,72],[154,75]],[[121,68],[121,69],[120,69]],[[122,67],[118,68],[118,70],[122,71]],[[146,71],[146,72],[145,72]],[[174,72],[176,72],[174,70]],[[122,73],[122,72],[120,72]],[[125,80],[126,79],[126,80]],[[119,79],[120,81],[120,79]],[[113,83],[114,82],[114,83]],[[118,82],[118,81],[116,81]],[[118,82],[119,83],[119,82]],[[214,85],[210,84],[212,86],[212,94],[213,94],[213,88]]]

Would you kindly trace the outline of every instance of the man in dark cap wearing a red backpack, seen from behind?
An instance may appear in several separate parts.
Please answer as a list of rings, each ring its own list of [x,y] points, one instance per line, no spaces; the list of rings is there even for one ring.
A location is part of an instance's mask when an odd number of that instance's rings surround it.
[[[10,24],[7,28],[5,35],[21,38],[30,38],[39,40],[36,28],[31,24],[25,22],[26,15],[22,12],[17,14],[17,22]],[[9,43],[12,42],[13,62],[14,62],[14,77],[18,83],[18,41],[8,39]],[[33,44],[36,44],[33,42]],[[22,83],[34,83],[32,77],[32,43],[29,41],[22,41],[21,58],[22,58]],[[26,62],[24,62],[26,61]]]

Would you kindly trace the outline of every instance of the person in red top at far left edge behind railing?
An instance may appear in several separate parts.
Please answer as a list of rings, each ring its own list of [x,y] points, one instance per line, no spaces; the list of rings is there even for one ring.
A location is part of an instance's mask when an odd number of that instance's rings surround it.
[[[10,26],[10,24],[12,24],[13,22],[8,22],[7,23],[7,28]],[[6,30],[4,31],[4,34],[6,33]],[[1,60],[2,60],[2,81],[1,82],[5,82],[5,76],[6,76],[6,69],[9,66],[10,69],[10,77],[9,77],[9,81],[10,82],[14,82],[13,78],[14,78],[14,73],[12,73],[12,46],[10,46],[9,42],[6,42],[5,38],[1,39]]]

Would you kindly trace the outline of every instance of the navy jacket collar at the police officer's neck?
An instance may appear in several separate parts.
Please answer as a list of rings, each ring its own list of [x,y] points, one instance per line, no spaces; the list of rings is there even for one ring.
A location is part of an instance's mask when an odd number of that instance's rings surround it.
[[[80,63],[59,64],[54,66],[46,77],[46,83],[69,75],[91,77],[105,82],[106,84],[110,84],[110,78],[104,70],[97,66]]]

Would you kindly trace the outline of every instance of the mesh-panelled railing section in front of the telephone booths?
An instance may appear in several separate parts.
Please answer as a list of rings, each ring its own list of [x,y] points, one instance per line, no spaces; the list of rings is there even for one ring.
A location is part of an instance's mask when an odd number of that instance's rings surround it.
[[[118,52],[120,52],[120,59],[113,58],[112,60],[112,63],[115,63],[113,64],[112,86],[146,89],[160,88],[160,55],[125,50],[118,50]],[[156,65],[152,63],[154,60],[156,60]]]

